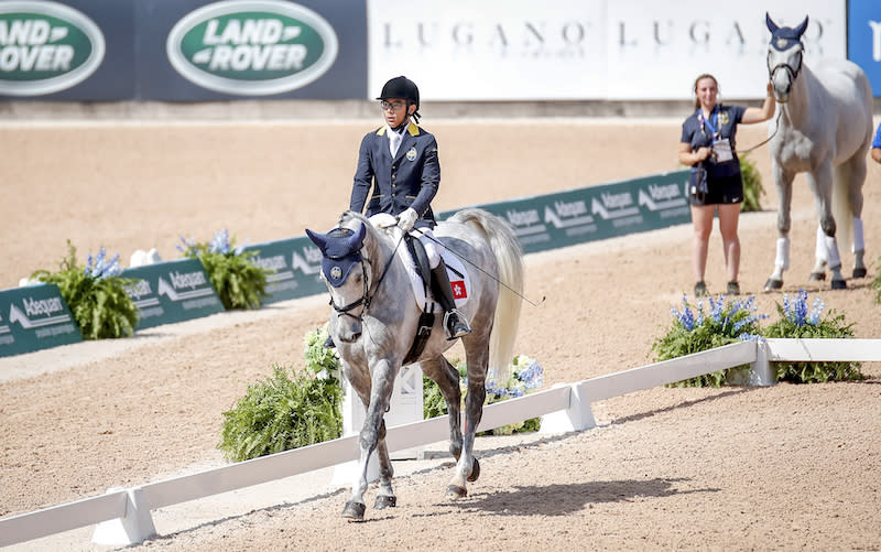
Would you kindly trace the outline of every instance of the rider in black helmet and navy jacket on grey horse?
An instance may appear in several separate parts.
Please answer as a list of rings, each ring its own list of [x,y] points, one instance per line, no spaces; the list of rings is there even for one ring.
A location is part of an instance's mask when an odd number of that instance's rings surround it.
[[[361,140],[349,208],[361,213],[367,203],[368,217],[388,213],[398,217],[398,226],[405,232],[416,229],[412,236],[425,247],[432,269],[432,293],[445,312],[447,339],[456,339],[471,328],[456,309],[440,257],[443,246],[432,235],[436,221],[431,202],[440,182],[437,141],[416,125],[420,90],[412,80],[404,76],[392,78],[377,99],[381,101],[384,125]]]

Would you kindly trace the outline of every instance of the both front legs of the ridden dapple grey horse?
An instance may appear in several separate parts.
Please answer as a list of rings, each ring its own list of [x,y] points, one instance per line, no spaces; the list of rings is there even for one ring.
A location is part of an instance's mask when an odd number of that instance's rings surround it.
[[[394,387],[394,370],[388,360],[379,360],[373,364],[369,397],[365,397],[361,390],[358,393],[365,403],[367,413],[361,433],[358,440],[360,447],[359,470],[356,480],[352,483],[351,496],[342,516],[352,520],[360,521],[365,517],[365,493],[368,487],[368,465],[370,455],[377,451],[380,462],[380,490],[377,497],[377,508],[395,506],[395,497],[392,491],[391,478],[393,469],[385,446],[385,422],[383,415],[389,408],[389,401]]]

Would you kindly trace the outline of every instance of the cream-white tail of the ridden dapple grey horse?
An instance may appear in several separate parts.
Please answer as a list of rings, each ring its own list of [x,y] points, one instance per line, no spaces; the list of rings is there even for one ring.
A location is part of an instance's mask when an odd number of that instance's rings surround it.
[[[511,377],[514,339],[523,295],[523,250],[507,221],[483,209],[463,209],[449,219],[479,228],[499,264],[499,301],[489,342],[489,379],[499,383]]]

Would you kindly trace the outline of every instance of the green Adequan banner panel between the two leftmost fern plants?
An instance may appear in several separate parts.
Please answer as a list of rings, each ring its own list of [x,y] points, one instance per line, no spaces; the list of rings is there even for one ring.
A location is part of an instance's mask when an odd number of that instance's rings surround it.
[[[120,275],[139,280],[128,289],[139,311],[135,332],[224,312],[224,304],[198,259],[126,269]]]

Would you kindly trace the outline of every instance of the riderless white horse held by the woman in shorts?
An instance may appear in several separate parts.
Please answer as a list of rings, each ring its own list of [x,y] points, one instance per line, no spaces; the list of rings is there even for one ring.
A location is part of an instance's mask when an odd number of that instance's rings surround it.
[[[831,288],[845,289],[837,229],[842,240],[852,239],[853,278],[866,275],[860,216],[872,140],[871,86],[862,69],[847,59],[826,59],[813,71],[803,63],[807,18],[796,28],[777,26],[768,14],[765,22],[771,31],[768,72],[777,101],[777,127],[769,127],[769,133],[775,132],[769,148],[779,210],[774,272],[764,289],[781,289],[790,267],[792,181],[802,172],[807,173],[819,217],[811,279],[824,280],[828,264]]]

